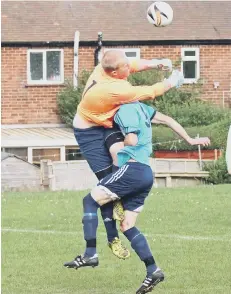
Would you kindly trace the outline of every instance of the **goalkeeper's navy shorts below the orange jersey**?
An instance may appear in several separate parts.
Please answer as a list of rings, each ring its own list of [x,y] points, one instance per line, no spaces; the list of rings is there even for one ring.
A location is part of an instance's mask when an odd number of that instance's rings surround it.
[[[74,128],[74,135],[80,151],[98,179],[112,172],[112,159],[109,148],[116,142],[123,141],[123,135],[117,126],[106,129],[91,127]]]

